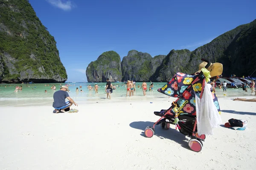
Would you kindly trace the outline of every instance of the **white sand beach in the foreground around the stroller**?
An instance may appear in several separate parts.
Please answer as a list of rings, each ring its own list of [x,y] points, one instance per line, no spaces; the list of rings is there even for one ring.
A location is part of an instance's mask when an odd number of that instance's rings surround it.
[[[253,98],[253,97],[247,97]],[[0,170],[254,170],[256,103],[219,98],[223,124],[247,119],[247,129],[219,126],[203,150],[189,150],[171,125],[144,130],[169,101],[79,104],[77,113],[52,113],[51,106],[0,109]]]

